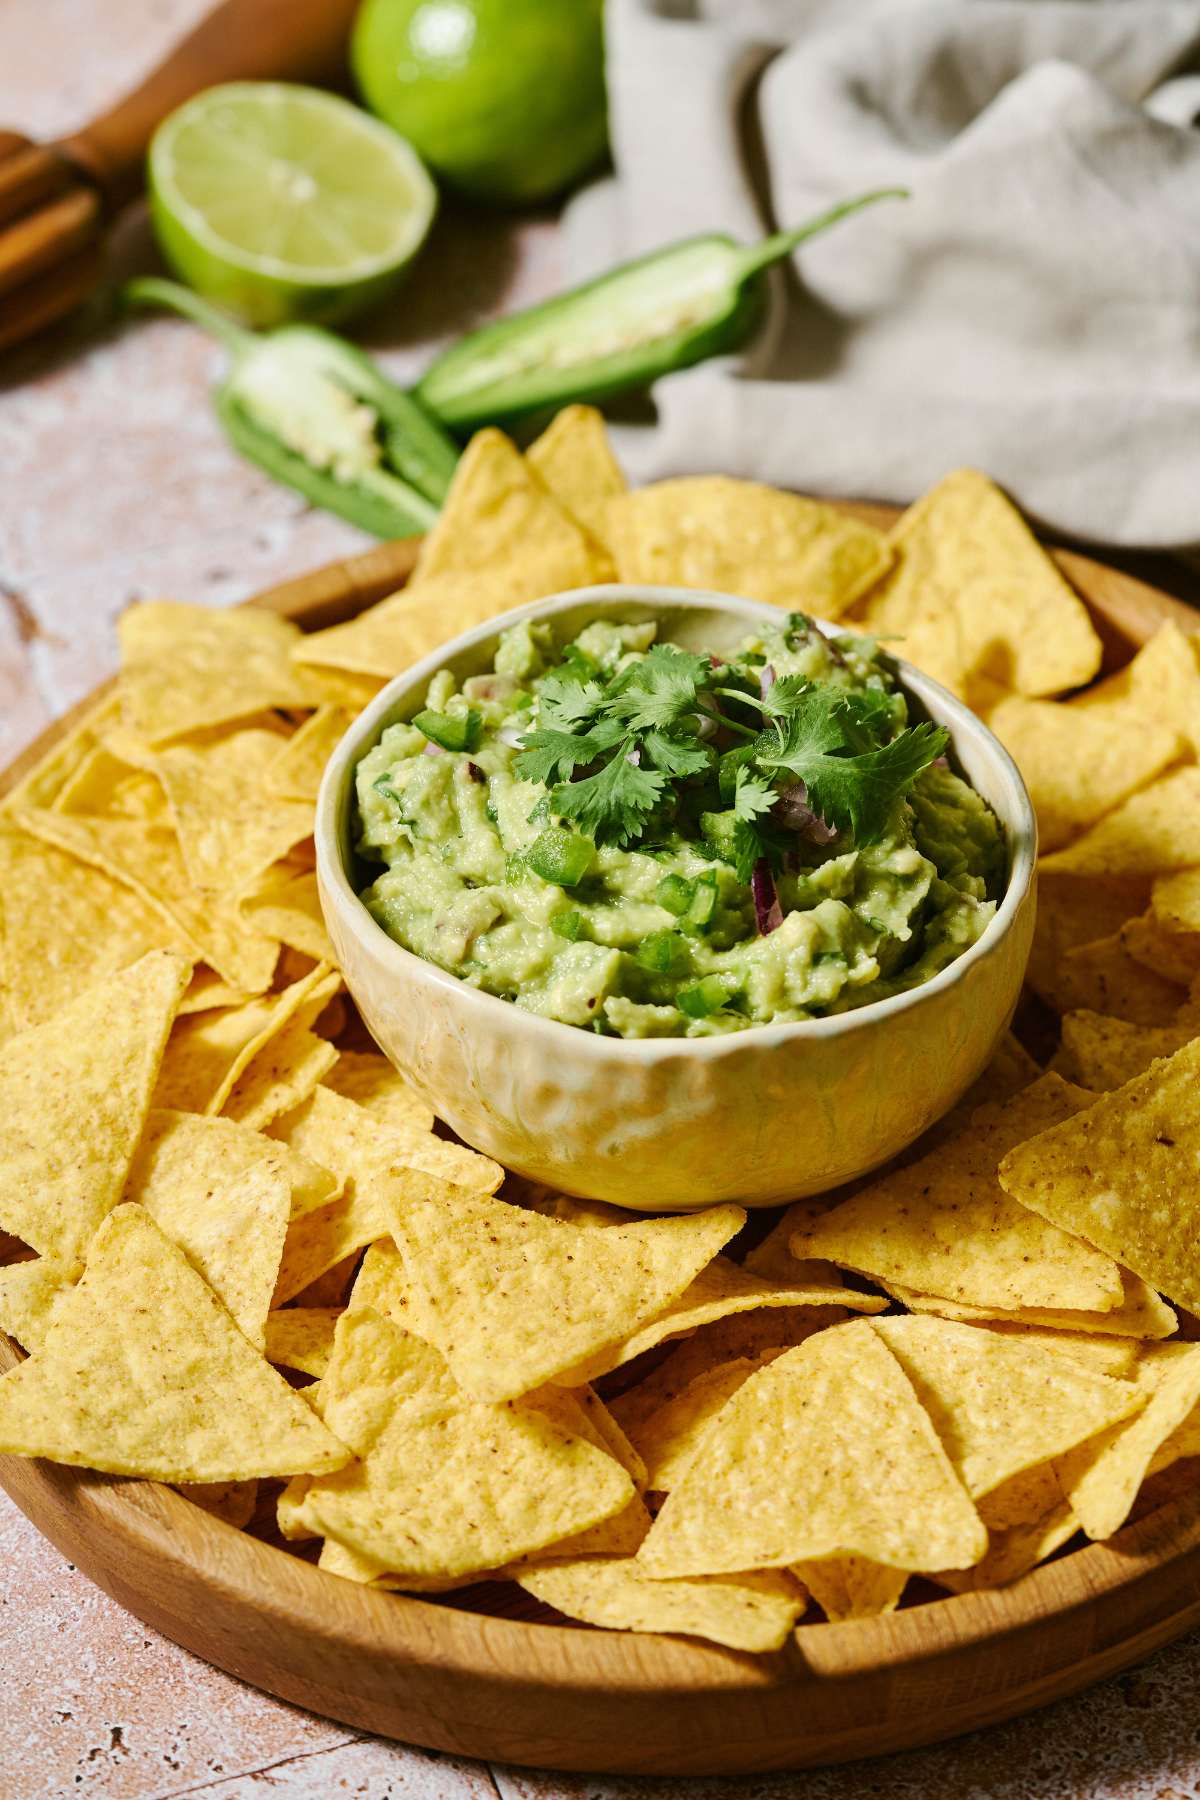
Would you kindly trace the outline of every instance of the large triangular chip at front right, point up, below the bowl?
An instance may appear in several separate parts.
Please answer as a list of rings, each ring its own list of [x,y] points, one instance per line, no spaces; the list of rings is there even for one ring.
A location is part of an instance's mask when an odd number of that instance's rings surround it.
[[[831,1555],[927,1570],[968,1568],[986,1548],[909,1377],[874,1325],[855,1319],[743,1382],[639,1561],[657,1577]]]

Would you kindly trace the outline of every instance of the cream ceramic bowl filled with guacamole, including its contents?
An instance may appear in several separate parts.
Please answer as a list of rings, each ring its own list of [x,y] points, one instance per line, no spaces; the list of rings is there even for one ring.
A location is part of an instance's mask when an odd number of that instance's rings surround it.
[[[1020,986],[1033,832],[997,740],[873,639],[604,587],[372,702],[326,778],[318,877],[369,1026],[468,1143],[626,1206],[766,1204],[882,1161],[979,1073]],[[914,1010],[883,1067],[883,1021]],[[775,1127],[820,1145],[788,1157],[763,1114],[801,1064]],[[714,1109],[741,1166],[696,1192]]]

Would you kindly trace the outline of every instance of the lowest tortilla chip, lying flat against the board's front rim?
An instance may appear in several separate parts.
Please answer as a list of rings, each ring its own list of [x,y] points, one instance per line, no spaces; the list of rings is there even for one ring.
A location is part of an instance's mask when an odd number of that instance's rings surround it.
[[[779,1651],[808,1595],[786,1573],[655,1580],[637,1557],[551,1562],[518,1577],[525,1593],[606,1631],[664,1631],[732,1651]]]

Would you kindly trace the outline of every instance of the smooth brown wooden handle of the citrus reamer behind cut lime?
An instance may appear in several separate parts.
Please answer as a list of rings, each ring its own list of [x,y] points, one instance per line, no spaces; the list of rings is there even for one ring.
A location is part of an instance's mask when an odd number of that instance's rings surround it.
[[[358,0],[225,0],[133,94],[58,148],[112,205],[142,184],[146,146],[169,112],[218,81],[336,81]]]

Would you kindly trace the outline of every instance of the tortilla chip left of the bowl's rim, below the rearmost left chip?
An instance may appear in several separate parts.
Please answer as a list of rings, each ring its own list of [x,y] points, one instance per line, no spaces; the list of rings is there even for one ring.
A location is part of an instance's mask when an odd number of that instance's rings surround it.
[[[311,837],[311,805],[266,788],[279,751],[277,733],[252,729],[176,743],[155,756],[196,887],[237,895]]]

